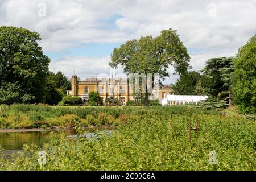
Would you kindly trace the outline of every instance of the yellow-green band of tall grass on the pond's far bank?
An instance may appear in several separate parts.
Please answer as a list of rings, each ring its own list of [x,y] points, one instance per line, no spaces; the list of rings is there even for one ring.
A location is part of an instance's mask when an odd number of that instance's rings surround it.
[[[65,127],[77,121],[90,125],[118,125],[125,115],[166,115],[190,113],[212,113],[192,106],[172,107],[51,107],[40,105],[1,106],[0,128]],[[65,116],[66,115],[66,116]],[[88,121],[88,115],[90,115]],[[106,115],[106,116],[104,116]],[[73,116],[73,118],[72,118]],[[92,117],[94,119],[92,119]],[[126,116],[127,117],[127,116]]]

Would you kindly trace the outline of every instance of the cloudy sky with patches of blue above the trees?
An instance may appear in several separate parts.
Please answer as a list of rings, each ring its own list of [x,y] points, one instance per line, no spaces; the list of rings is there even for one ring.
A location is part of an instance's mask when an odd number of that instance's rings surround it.
[[[113,48],[168,28],[177,30],[198,71],[210,57],[236,55],[256,33],[255,19],[253,0],[0,0],[0,26],[39,32],[51,71],[81,78],[110,74]]]

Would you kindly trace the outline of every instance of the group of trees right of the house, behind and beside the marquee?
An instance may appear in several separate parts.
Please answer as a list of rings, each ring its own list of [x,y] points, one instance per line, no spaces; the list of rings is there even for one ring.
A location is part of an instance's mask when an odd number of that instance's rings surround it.
[[[242,113],[256,113],[256,35],[235,57],[209,59],[204,69],[184,73],[172,88],[175,94],[209,96],[209,108],[233,103]]]

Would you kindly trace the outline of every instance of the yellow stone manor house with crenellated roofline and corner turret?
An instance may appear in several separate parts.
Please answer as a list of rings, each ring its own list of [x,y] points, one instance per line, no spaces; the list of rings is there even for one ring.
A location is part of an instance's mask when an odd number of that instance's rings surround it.
[[[134,98],[133,89],[130,88],[129,83],[123,81],[123,79],[110,78],[106,84],[102,84],[102,80],[98,78],[87,78],[83,81],[79,81],[77,76],[71,78],[71,91],[67,94],[71,96],[79,96],[86,103],[89,102],[89,92],[95,91],[100,94],[100,105],[104,105],[105,98],[118,98],[119,105],[125,105],[127,101],[134,100],[140,102],[139,99]],[[170,95],[173,90],[170,85],[159,86],[159,89],[152,93],[153,98],[159,100],[166,99],[167,94]]]

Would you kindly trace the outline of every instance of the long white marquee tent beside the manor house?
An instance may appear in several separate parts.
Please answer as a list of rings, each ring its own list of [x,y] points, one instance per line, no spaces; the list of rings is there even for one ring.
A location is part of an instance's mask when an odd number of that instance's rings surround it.
[[[199,101],[207,100],[208,96],[183,96],[183,95],[167,95],[167,98],[160,102],[163,106],[197,104]]]

